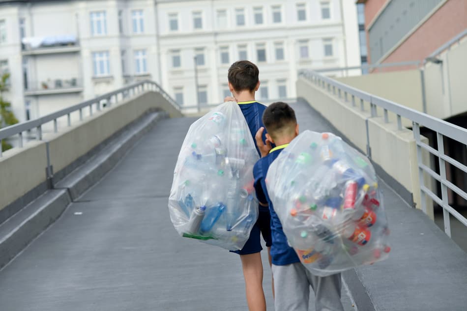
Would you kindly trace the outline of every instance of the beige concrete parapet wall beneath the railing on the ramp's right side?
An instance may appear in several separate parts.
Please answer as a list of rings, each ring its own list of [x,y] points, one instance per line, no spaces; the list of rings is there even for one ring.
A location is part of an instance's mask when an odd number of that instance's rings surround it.
[[[398,130],[397,123],[384,123],[382,117],[370,118],[368,111],[351,107],[303,78],[297,81],[297,96],[308,101],[360,150],[366,150],[365,119],[368,118],[372,161],[411,193],[420,208],[416,144],[410,130]],[[428,143],[426,138],[422,141]],[[424,153],[423,157],[428,163],[428,155]],[[428,208],[428,215],[433,219],[432,206]]]

